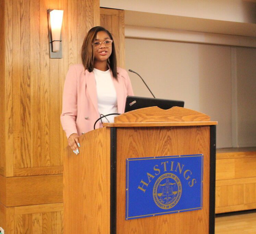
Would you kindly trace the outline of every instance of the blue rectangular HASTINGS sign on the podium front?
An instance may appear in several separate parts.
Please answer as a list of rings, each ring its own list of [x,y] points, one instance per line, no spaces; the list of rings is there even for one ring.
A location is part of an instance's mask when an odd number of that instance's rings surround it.
[[[126,220],[203,207],[203,155],[126,159]]]

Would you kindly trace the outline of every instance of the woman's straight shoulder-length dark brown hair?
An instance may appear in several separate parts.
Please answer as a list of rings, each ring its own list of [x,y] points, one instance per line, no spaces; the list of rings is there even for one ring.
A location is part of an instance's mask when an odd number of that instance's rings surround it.
[[[84,42],[82,45],[82,63],[84,65],[85,70],[87,69],[89,72],[92,72],[94,69],[94,49],[93,49],[93,42],[96,39],[98,32],[106,32],[110,39],[113,40],[112,35],[110,32],[103,27],[96,26],[89,30],[86,37],[84,38]],[[115,79],[117,79],[117,56],[115,54],[115,44],[114,41],[112,43],[112,53],[108,59],[108,65],[110,67],[110,70],[112,72],[112,75]]]

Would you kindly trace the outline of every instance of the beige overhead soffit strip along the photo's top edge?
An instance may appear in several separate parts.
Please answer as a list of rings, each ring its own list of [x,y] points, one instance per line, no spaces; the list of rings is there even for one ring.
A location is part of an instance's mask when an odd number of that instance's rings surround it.
[[[256,22],[256,3],[243,0],[100,0],[100,7],[232,22]]]

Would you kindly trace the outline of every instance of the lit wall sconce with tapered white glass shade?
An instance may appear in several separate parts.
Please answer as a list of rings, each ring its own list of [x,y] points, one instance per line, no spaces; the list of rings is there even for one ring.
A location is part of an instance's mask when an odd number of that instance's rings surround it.
[[[50,58],[62,58],[61,26],[63,19],[62,10],[47,10]]]

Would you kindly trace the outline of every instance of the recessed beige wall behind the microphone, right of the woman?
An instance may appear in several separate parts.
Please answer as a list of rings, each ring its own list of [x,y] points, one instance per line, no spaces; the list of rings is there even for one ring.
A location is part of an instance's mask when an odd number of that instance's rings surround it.
[[[218,45],[193,44],[185,42],[125,39],[126,69],[132,69],[145,79],[158,98],[184,100],[185,107],[211,116],[218,121],[217,147],[232,147],[232,82],[231,47]],[[254,59],[254,60],[253,60]],[[243,61],[243,62],[242,62]],[[256,108],[251,110],[248,104],[241,102],[256,100],[255,91],[255,49],[239,48],[237,51],[238,82],[238,120],[239,146],[255,146],[256,129],[248,127],[242,118],[253,112],[250,123],[255,123]],[[247,71],[248,74],[244,73]],[[241,73],[241,75],[240,75]],[[150,97],[142,81],[135,74],[129,74],[134,93],[137,96]],[[246,78],[249,77],[249,78]],[[240,81],[243,81],[243,86]],[[250,87],[248,89],[248,86]],[[241,96],[242,87],[250,90]],[[254,104],[255,106],[255,104]],[[255,124],[256,125],[256,124]],[[251,130],[250,130],[251,129]],[[254,139],[248,136],[248,131]],[[253,135],[254,134],[254,135]],[[248,144],[245,145],[244,141]]]

